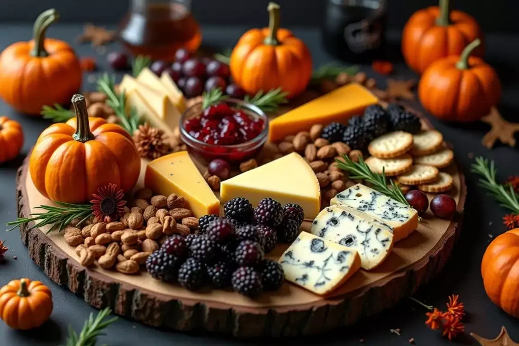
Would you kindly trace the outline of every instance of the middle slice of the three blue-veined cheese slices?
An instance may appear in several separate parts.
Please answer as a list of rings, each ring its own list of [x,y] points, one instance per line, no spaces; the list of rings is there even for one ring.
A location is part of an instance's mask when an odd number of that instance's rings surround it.
[[[379,266],[393,248],[393,227],[346,205],[331,205],[313,220],[310,232],[357,250],[361,267]]]

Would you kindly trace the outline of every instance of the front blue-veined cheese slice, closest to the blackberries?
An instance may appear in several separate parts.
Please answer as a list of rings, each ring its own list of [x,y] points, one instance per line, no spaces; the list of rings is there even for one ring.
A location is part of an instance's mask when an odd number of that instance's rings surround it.
[[[342,285],[360,267],[360,257],[352,248],[301,232],[281,255],[285,279],[325,295]]]

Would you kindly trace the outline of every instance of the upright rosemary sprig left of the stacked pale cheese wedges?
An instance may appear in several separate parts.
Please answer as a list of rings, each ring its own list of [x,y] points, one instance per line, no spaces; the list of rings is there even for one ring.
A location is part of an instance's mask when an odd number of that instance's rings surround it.
[[[106,104],[110,106],[115,115],[121,121],[121,126],[130,134],[133,134],[141,123],[141,117],[137,114],[135,108],[130,109],[130,114],[126,114],[126,95],[123,90],[119,94],[115,92],[115,78],[104,74],[97,81],[98,90],[108,96]]]

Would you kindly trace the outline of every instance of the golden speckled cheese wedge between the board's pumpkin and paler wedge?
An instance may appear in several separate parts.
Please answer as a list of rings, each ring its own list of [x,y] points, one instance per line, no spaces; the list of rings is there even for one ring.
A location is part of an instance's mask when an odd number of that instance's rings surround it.
[[[220,214],[220,201],[214,196],[187,151],[162,156],[149,162],[144,185],[158,195],[176,193],[186,200],[195,217]]]

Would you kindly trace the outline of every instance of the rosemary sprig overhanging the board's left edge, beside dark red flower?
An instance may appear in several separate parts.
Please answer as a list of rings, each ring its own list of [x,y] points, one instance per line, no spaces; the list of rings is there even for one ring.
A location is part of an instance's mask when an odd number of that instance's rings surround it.
[[[18,217],[16,221],[8,222],[7,226],[13,226],[8,231],[34,221],[35,224],[31,229],[52,225],[47,233],[55,229],[61,232],[73,219],[80,219],[81,221],[78,224],[81,224],[92,215],[91,204],[54,203],[60,206],[40,205],[36,209],[46,210],[46,213],[34,213],[31,217]]]

